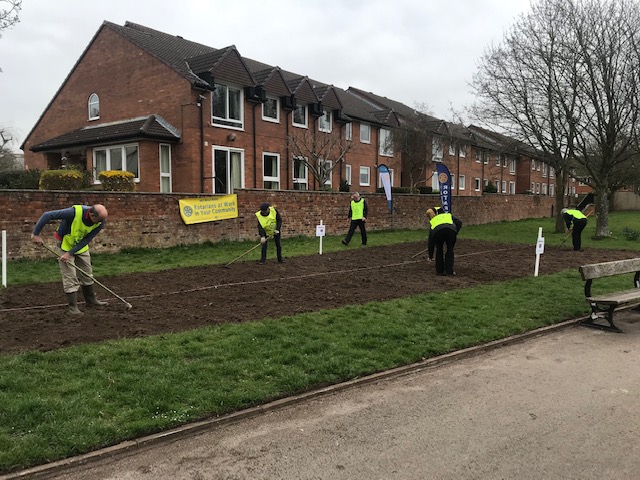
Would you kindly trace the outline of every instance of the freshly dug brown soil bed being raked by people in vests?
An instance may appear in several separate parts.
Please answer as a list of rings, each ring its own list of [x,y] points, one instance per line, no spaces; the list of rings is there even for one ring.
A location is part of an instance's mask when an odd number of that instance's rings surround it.
[[[251,261],[228,268],[216,265],[98,277],[133,308],[127,310],[96,285],[98,298],[109,305],[88,309],[81,304],[82,316],[67,314],[61,282],[12,286],[0,292],[0,354],[278,318],[501,282],[534,272],[535,246],[459,239],[456,275],[448,277],[436,276],[426,253],[415,256],[425,248],[425,242],[352,245],[335,253],[286,258],[285,239],[284,264],[270,258],[263,266]],[[625,250],[574,252],[547,246],[540,274],[637,255]]]

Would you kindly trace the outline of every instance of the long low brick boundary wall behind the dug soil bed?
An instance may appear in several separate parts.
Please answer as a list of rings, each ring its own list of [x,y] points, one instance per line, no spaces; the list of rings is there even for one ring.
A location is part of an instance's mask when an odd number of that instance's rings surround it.
[[[47,210],[74,204],[102,203],[109,210],[107,227],[92,242],[94,252],[117,252],[128,247],[169,247],[197,244],[207,240],[256,239],[255,212],[260,203],[275,205],[284,217],[284,238],[315,236],[320,221],[327,235],[344,234],[349,225],[349,194],[335,192],[293,192],[238,190],[238,218],[185,225],[178,200],[206,197],[200,194],[161,194],[135,192],[66,192],[38,190],[0,190],[0,230],[7,231],[9,259],[45,257],[30,241],[36,221]],[[388,213],[384,194],[367,194],[369,230],[426,229],[425,211],[440,203],[437,195],[394,196],[393,214]],[[481,197],[454,197],[452,209],[466,225],[478,225],[523,218],[548,217],[554,199],[534,195],[490,194]],[[51,238],[54,226],[43,231]],[[49,254],[50,255],[50,254]]]

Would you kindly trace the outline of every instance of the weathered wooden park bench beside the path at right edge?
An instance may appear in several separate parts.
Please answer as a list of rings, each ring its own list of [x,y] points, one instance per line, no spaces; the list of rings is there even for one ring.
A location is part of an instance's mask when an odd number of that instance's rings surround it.
[[[622,330],[613,324],[613,312],[616,308],[640,304],[640,258],[583,265],[579,270],[582,280],[586,282],[584,284],[584,296],[591,306],[590,317],[580,323],[587,327],[622,333]],[[612,277],[633,272],[635,272],[633,278],[635,288],[603,295],[591,294],[591,284],[596,278]],[[602,312],[605,312],[606,315],[603,315]],[[609,325],[595,323],[599,318],[606,318]]]

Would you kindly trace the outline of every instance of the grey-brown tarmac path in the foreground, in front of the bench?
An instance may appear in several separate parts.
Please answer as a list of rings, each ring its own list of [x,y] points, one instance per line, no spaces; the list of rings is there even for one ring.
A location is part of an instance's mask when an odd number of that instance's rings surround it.
[[[640,313],[365,383],[57,480],[640,478]]]

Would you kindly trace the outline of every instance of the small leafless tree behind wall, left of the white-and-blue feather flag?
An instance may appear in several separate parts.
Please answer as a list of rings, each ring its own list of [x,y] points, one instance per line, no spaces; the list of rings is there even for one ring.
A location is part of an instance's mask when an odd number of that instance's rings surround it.
[[[307,166],[323,190],[333,171],[340,169],[353,142],[344,139],[340,129],[334,129],[331,133],[303,130],[289,135],[287,146],[291,155]]]

